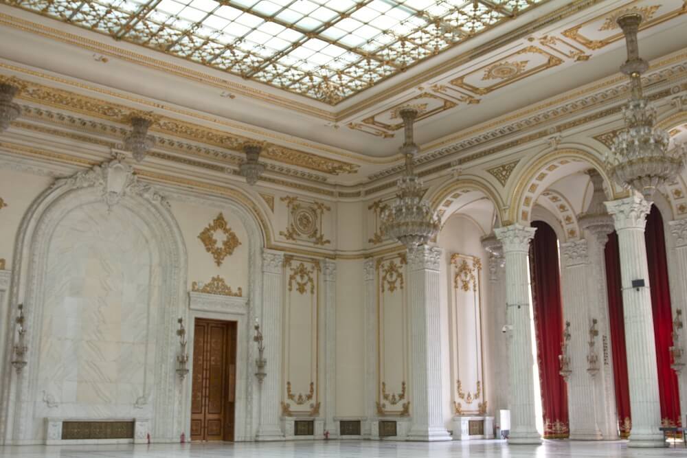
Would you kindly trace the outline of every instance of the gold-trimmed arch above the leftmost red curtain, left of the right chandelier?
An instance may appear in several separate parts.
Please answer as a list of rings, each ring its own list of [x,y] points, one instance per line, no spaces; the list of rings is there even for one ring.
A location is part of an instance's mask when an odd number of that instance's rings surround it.
[[[550,184],[565,175],[590,167],[598,170],[603,176],[609,190],[613,192],[613,196],[609,196],[610,198],[621,198],[627,194],[627,192],[623,192],[617,186],[612,185],[598,154],[579,149],[545,152],[531,159],[515,181],[508,206],[508,222],[529,225],[534,203]]]

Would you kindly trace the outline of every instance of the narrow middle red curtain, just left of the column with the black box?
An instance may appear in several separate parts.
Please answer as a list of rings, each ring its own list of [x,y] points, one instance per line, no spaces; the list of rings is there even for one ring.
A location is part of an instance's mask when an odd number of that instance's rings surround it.
[[[630,415],[630,388],[627,380],[627,353],[625,352],[625,321],[622,314],[622,282],[620,279],[620,249],[618,234],[608,236],[606,249],[606,290],[613,352],[613,382],[616,385],[616,410],[620,437],[627,438],[632,426]]]

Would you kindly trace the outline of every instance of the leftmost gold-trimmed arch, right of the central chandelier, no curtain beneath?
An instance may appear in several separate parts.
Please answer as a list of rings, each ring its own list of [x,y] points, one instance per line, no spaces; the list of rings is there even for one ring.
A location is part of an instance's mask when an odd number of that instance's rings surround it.
[[[503,220],[503,201],[498,192],[480,176],[461,175],[458,179],[451,179],[441,185],[429,197],[431,207],[440,216],[441,225],[460,208],[486,198],[492,203],[499,221]]]

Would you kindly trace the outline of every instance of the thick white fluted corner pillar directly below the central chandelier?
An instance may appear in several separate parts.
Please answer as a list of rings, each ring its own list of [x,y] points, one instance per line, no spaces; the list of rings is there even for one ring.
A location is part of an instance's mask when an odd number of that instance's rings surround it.
[[[418,247],[408,253],[410,316],[410,411],[407,439],[451,440],[442,415],[439,262],[441,249]]]

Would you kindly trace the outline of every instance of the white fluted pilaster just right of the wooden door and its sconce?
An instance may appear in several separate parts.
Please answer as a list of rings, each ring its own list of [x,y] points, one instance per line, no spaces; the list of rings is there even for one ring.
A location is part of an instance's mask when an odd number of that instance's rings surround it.
[[[284,253],[262,251],[262,336],[267,377],[259,386],[260,424],[258,441],[284,440],[280,426],[280,388],[282,387],[282,308]]]

